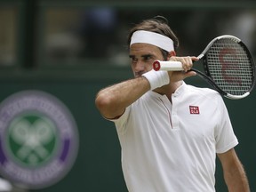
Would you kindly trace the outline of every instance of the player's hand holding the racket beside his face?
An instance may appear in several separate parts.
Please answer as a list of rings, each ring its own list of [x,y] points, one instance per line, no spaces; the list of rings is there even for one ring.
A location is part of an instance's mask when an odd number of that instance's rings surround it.
[[[172,56],[170,58],[172,61],[180,61],[182,63],[182,67],[184,71],[169,71],[170,82],[178,82],[189,76],[196,76],[195,71],[189,71],[193,67],[193,62],[199,60],[195,56],[193,57],[176,57]]]

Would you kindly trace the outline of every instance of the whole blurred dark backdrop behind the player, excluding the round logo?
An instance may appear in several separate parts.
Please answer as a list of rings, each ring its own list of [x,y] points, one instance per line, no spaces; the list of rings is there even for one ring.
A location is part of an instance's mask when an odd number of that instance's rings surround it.
[[[255,1],[0,0],[0,100],[24,90],[49,92],[68,106],[79,132],[70,172],[50,187],[26,191],[127,191],[115,125],[100,116],[94,99],[101,88],[132,77],[129,28],[156,15],[180,38],[178,55],[197,56],[212,38],[229,34],[256,60]],[[199,77],[186,82],[210,87]],[[236,152],[256,191],[255,91],[224,100],[240,141]],[[216,190],[228,191],[219,160]]]

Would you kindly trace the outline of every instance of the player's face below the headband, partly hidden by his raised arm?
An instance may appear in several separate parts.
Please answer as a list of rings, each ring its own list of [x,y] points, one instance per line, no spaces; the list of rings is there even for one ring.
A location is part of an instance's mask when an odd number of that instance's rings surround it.
[[[152,44],[132,44],[130,47],[131,66],[133,75],[139,77],[150,71],[154,60],[163,60],[164,57],[158,47]]]

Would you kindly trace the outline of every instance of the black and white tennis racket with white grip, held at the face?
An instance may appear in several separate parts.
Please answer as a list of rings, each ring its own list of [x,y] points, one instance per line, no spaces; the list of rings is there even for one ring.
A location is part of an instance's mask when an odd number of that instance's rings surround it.
[[[245,98],[255,84],[255,65],[246,45],[236,36],[218,36],[198,57],[203,60],[204,72],[191,68],[213,88],[228,99]],[[157,70],[182,71],[179,61],[155,60]]]

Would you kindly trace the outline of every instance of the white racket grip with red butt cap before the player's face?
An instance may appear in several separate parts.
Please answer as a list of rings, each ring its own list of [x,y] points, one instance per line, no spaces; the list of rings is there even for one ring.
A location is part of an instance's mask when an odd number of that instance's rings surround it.
[[[153,63],[154,70],[167,70],[167,71],[183,71],[182,63],[180,61],[162,61],[155,60]]]

